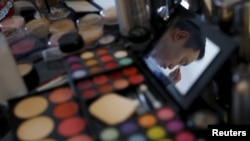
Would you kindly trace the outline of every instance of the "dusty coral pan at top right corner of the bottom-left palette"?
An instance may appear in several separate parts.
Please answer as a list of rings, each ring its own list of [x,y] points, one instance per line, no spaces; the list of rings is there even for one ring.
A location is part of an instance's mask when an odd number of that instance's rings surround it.
[[[53,90],[49,95],[52,103],[61,103],[68,101],[73,96],[73,91],[69,87],[61,87]]]

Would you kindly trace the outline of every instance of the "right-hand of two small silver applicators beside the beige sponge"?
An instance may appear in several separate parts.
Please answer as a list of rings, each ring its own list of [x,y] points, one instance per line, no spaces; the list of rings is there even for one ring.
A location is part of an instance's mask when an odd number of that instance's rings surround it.
[[[152,103],[153,107],[155,109],[158,109],[160,107],[162,107],[162,104],[160,101],[158,101],[154,96],[153,94],[148,90],[148,87],[147,85],[145,84],[141,84],[139,86],[139,90],[144,93],[146,95],[146,97],[149,99],[149,101]]]

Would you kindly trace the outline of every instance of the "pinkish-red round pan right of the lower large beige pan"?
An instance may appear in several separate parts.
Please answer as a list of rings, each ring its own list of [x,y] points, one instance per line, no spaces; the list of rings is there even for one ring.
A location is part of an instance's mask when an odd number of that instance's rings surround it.
[[[86,127],[86,121],[80,117],[71,117],[63,120],[58,125],[58,133],[62,136],[73,136],[80,133]]]

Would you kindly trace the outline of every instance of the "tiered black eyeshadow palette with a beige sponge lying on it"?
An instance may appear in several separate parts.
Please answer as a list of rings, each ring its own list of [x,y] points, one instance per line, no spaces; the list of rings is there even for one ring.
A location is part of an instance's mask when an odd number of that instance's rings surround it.
[[[125,49],[99,47],[65,58],[72,86],[87,106],[96,140],[195,140],[177,110],[155,97]]]

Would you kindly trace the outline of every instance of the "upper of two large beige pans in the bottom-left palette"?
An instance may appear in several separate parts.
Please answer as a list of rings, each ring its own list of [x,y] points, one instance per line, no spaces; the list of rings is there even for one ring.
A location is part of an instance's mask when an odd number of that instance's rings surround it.
[[[43,113],[48,107],[48,101],[42,96],[33,96],[19,102],[14,109],[15,116],[30,118]]]

